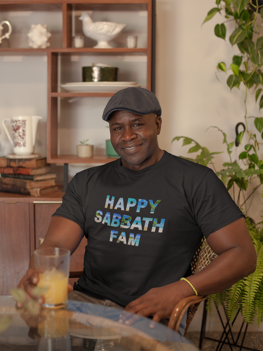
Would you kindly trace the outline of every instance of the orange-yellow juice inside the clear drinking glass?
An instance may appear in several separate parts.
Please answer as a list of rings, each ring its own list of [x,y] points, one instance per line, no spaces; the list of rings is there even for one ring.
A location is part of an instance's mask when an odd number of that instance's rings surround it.
[[[69,277],[56,269],[39,273],[38,287],[48,288],[43,294],[45,307],[56,307],[67,303],[68,282]]]

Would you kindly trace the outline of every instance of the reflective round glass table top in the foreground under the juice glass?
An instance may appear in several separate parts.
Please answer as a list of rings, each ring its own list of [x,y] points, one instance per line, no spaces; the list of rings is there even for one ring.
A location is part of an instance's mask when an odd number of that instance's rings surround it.
[[[120,313],[136,317],[128,326]],[[179,333],[150,318],[121,310],[68,301],[66,309],[41,309],[33,315],[15,307],[10,296],[0,296],[1,351],[197,351]]]

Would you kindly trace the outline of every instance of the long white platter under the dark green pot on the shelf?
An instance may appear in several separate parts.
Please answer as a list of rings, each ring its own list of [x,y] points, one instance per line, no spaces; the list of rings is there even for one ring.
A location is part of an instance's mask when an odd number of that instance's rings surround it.
[[[115,93],[121,89],[130,87],[131,85],[108,85],[108,84],[88,84],[88,85],[75,85],[75,84],[61,84],[63,89],[69,93]],[[133,85],[140,87],[141,85]]]

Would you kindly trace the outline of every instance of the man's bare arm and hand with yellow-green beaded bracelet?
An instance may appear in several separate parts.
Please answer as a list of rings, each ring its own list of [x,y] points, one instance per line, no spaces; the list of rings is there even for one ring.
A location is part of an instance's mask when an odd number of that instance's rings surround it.
[[[255,271],[256,251],[244,218],[210,234],[207,242],[219,257],[200,273],[187,277],[198,295],[221,292]],[[143,316],[153,316],[152,319],[158,322],[169,317],[181,299],[193,294],[190,285],[180,280],[150,289],[139,299],[129,303],[125,310]]]

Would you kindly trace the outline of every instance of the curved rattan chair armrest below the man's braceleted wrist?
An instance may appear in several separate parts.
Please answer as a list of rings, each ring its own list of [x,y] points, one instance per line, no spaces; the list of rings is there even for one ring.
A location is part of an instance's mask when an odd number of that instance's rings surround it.
[[[191,305],[197,305],[197,304],[199,305],[200,302],[206,300],[207,298],[208,298],[208,296],[191,295],[191,296],[188,296],[188,297],[182,299],[181,301],[179,301],[178,304],[175,306],[174,311],[171,314],[168,328],[171,328],[171,329],[178,332],[179,327],[180,327],[180,323],[181,323],[182,318],[183,318],[185,312],[187,311],[188,307]],[[197,308],[196,308],[196,310],[197,310]],[[193,315],[190,316],[190,321],[192,318],[193,318]],[[190,324],[190,321],[188,320],[188,324],[187,324],[187,327],[185,330],[185,335],[186,335],[188,326]]]

